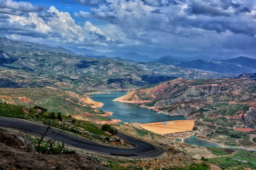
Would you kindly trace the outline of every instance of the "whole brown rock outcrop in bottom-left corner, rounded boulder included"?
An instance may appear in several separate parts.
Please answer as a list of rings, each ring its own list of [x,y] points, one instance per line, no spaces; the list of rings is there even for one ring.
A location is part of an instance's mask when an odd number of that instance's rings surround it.
[[[36,154],[34,146],[25,135],[1,127],[0,134],[0,169],[110,170],[85,155]]]

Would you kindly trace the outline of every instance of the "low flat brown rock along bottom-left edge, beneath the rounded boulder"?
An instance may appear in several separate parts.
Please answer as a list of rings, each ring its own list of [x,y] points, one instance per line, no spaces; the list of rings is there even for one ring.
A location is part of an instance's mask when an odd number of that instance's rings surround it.
[[[0,143],[0,160],[0,169],[109,170],[88,156],[76,154],[41,155],[27,153],[13,149],[4,143]]]

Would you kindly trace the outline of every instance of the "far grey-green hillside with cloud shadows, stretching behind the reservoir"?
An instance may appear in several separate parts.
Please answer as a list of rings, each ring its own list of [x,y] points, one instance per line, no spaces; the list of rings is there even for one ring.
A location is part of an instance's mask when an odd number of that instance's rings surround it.
[[[13,84],[19,87],[50,86],[83,93],[135,89],[169,80],[169,77],[222,76],[225,75],[160,63],[85,57],[61,47],[7,38],[1,38],[0,42],[0,85],[3,84],[1,81],[8,82],[4,87],[13,87]]]

